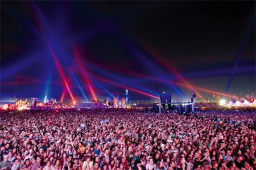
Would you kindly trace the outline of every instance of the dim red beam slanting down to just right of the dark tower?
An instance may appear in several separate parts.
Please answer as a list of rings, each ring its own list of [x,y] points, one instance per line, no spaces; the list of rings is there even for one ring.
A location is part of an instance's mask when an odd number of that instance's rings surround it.
[[[181,80],[181,82],[183,82],[186,86],[188,86],[191,90],[194,88],[191,84],[189,84],[184,78],[183,76],[174,69],[174,67],[172,67],[170,64],[168,64],[168,62],[162,57],[162,55],[160,55],[158,52],[156,52],[156,50],[154,48],[152,48],[151,46],[149,46],[148,44],[146,44],[146,42],[144,42],[139,36],[135,36],[137,42],[140,43],[140,45],[142,45],[142,47],[144,49],[146,49],[152,57],[154,57],[156,59],[156,61],[158,61],[159,63],[161,63],[164,67],[166,67],[166,69],[168,69],[171,73],[173,73],[178,79]],[[199,97],[202,97],[199,92],[196,92],[196,94]]]

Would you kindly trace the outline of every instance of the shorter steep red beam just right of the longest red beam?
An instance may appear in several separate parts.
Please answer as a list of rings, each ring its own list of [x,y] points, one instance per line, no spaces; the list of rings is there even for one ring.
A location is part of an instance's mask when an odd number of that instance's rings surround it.
[[[77,64],[80,66],[80,68],[85,72],[86,72],[86,69],[85,69],[85,66],[82,65],[82,61],[81,61],[81,54],[79,52],[79,50],[75,47],[75,46],[72,46],[72,52],[73,52],[73,56],[75,57],[76,61],[77,61]],[[84,79],[86,81],[86,83],[88,84],[88,87],[89,87],[89,90],[93,96],[93,99],[95,101],[97,101],[97,97],[96,97],[96,94],[93,90],[93,87],[92,87],[92,83],[90,82],[88,76],[86,74],[83,74],[84,75]]]

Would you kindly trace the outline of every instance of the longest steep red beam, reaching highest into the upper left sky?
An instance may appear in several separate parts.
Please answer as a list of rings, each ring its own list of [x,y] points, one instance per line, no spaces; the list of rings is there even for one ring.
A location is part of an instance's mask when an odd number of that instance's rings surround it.
[[[50,50],[50,52],[51,52],[51,55],[52,55],[53,61],[54,61],[54,63],[55,63],[55,66],[57,67],[57,70],[58,70],[58,72],[59,72],[59,75],[60,75],[61,79],[63,80],[63,82],[64,82],[64,84],[65,84],[65,87],[67,88],[68,93],[69,93],[69,95],[71,96],[71,99],[73,100],[73,103],[75,104],[75,103],[76,103],[75,98],[74,98],[74,96],[73,96],[73,94],[72,94],[72,92],[71,92],[71,90],[70,90],[70,88],[69,88],[69,85],[68,85],[67,80],[65,79],[63,70],[61,69],[61,66],[60,66],[60,62],[59,62],[59,60],[57,59],[57,56],[56,56],[56,54],[55,54],[55,52],[54,52],[54,50],[53,50],[51,44],[49,43],[49,40],[48,40],[46,31],[44,30],[44,27],[43,27],[42,23],[40,22],[40,19],[38,18],[38,15],[37,15],[37,13],[36,13],[36,11],[35,11],[35,9],[34,9],[33,7],[32,7],[32,12],[34,13],[36,23],[38,23],[39,28],[40,28],[40,30],[42,31],[44,38],[46,39],[47,45],[48,45],[49,50]]]

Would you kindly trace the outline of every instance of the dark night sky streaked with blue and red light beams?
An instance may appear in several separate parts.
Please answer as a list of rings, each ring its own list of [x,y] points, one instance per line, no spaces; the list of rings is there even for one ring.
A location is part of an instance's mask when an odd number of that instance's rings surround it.
[[[1,1],[1,99],[70,101],[56,59],[77,101],[91,88],[101,100],[125,88],[131,100],[189,100],[185,82],[245,96],[256,92],[255,1]]]

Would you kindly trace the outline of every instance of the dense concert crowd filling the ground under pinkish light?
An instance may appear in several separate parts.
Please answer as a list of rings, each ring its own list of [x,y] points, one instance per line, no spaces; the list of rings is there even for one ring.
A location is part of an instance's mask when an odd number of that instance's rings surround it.
[[[1,112],[0,169],[256,169],[255,110]]]

